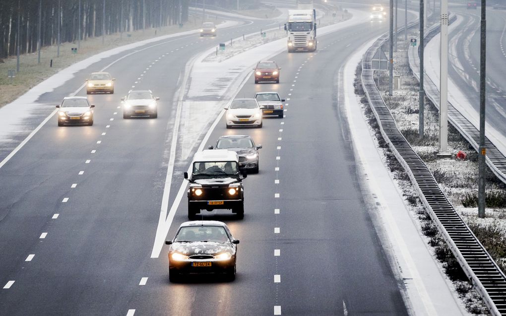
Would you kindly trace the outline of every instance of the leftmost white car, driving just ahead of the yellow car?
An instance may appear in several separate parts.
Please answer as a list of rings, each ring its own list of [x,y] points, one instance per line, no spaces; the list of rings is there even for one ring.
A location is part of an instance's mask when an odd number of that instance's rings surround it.
[[[87,97],[65,97],[58,108],[58,126],[65,124],[93,125],[93,110]]]

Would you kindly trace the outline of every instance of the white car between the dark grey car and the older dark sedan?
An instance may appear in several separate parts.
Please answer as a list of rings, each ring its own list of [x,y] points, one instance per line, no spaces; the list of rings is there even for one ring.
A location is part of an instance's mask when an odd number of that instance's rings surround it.
[[[227,128],[234,126],[262,127],[262,110],[255,98],[234,99],[227,110]]]

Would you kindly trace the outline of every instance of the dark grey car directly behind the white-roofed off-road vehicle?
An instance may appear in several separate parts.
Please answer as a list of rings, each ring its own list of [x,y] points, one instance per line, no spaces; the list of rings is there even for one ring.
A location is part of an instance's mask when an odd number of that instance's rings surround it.
[[[232,150],[239,156],[239,169],[250,170],[258,173],[259,170],[259,152],[262,145],[255,145],[250,136],[246,135],[225,135],[221,136],[215,146],[209,146],[208,149],[227,149]]]

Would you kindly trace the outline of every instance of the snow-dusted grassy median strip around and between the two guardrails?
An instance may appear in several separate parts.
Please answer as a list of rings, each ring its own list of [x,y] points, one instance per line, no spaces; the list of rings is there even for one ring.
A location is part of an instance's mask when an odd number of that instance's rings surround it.
[[[416,36],[415,34],[412,34]],[[410,38],[408,36],[408,38]],[[399,130],[412,145],[415,152],[425,161],[434,174],[443,192],[478,237],[487,251],[496,260],[499,267],[506,270],[506,186],[487,168],[486,218],[478,218],[478,155],[471,145],[450,125],[448,147],[451,158],[440,158],[438,142],[438,111],[426,98],[424,137],[418,134],[418,81],[412,75],[407,58],[408,43],[399,41],[398,51],[394,53],[394,73],[401,76],[401,89],[388,95],[388,72],[379,73],[379,90],[394,116]],[[384,49],[387,49],[384,47]],[[377,73],[374,77],[377,78]],[[361,87],[357,85],[357,94]],[[409,178],[402,166],[385,144],[377,128],[367,100],[362,99],[364,111],[369,117],[371,127],[376,130],[378,146],[382,149],[385,162],[393,177],[411,206],[413,218],[418,219],[421,232],[429,245],[433,247],[435,257],[441,262],[448,278],[453,282],[455,291],[462,299],[468,311],[475,314],[488,314],[488,309],[478,293],[468,282],[458,262],[437,232],[429,214],[418,199]],[[465,160],[457,160],[456,153],[466,152]]]

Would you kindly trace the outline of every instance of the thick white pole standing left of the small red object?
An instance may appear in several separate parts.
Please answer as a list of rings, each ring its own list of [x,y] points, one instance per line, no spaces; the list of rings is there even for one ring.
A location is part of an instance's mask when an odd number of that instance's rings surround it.
[[[441,1],[439,155],[448,156],[448,0]]]

